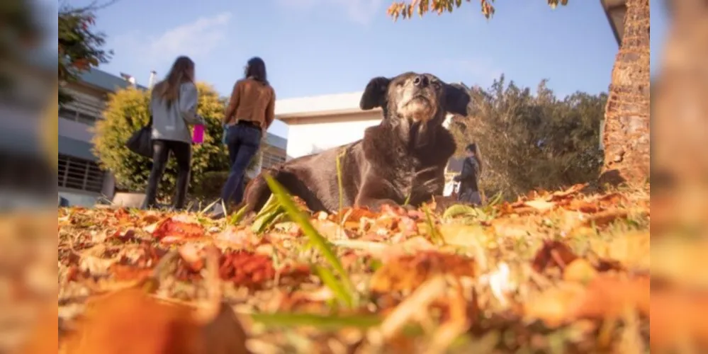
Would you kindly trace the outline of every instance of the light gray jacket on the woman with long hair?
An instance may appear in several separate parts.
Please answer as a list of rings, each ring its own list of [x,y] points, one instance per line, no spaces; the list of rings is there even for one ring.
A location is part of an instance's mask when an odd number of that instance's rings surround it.
[[[179,86],[179,98],[169,107],[162,98],[152,96],[152,139],[173,140],[191,144],[189,125],[205,124],[197,113],[197,89],[191,82]]]

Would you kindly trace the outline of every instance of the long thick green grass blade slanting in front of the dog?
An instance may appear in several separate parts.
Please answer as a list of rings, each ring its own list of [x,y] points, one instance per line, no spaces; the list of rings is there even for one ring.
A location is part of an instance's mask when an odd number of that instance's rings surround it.
[[[354,287],[351,285],[351,278],[349,278],[347,270],[344,270],[342,263],[339,262],[339,258],[337,258],[337,255],[334,251],[332,251],[329,244],[327,243],[327,239],[320,235],[317,229],[313,227],[313,224],[310,224],[310,220],[308,219],[308,217],[298,209],[298,207],[295,205],[293,200],[286,192],[285,188],[283,188],[283,185],[278,183],[278,181],[274,180],[273,177],[271,177],[268,173],[263,173],[263,177],[266,179],[266,183],[268,183],[268,186],[271,188],[273,194],[276,195],[276,198],[278,198],[280,205],[288,214],[288,217],[290,217],[293,222],[296,222],[296,224],[298,224],[300,228],[303,229],[303,232],[306,236],[308,236],[310,242],[312,242],[313,246],[315,246],[320,251],[320,253],[322,253],[322,256],[324,256],[327,262],[332,265],[332,268],[335,268],[339,277],[342,278],[342,281],[347,282],[347,285],[349,285],[349,289],[354,289]]]

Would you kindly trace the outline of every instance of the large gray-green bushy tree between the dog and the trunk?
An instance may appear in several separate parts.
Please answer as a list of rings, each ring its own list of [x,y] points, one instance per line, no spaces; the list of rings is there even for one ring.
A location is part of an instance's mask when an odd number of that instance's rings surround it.
[[[556,98],[546,81],[535,94],[505,77],[490,89],[473,89],[472,111],[450,125],[458,151],[476,142],[481,150],[485,193],[515,198],[532,189],[555,189],[597,179],[597,146],[607,95],[576,92]]]

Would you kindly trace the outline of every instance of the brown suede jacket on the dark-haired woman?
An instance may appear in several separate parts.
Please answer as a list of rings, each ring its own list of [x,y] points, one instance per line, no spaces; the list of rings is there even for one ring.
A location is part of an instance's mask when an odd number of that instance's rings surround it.
[[[224,115],[225,125],[254,122],[265,132],[275,119],[275,91],[251,78],[236,81]]]

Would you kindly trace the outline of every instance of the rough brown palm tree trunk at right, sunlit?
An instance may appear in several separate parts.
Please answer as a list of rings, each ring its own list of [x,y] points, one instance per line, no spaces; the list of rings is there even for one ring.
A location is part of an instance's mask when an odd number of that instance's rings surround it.
[[[605,107],[602,183],[649,176],[649,0],[627,0],[622,45]]]

